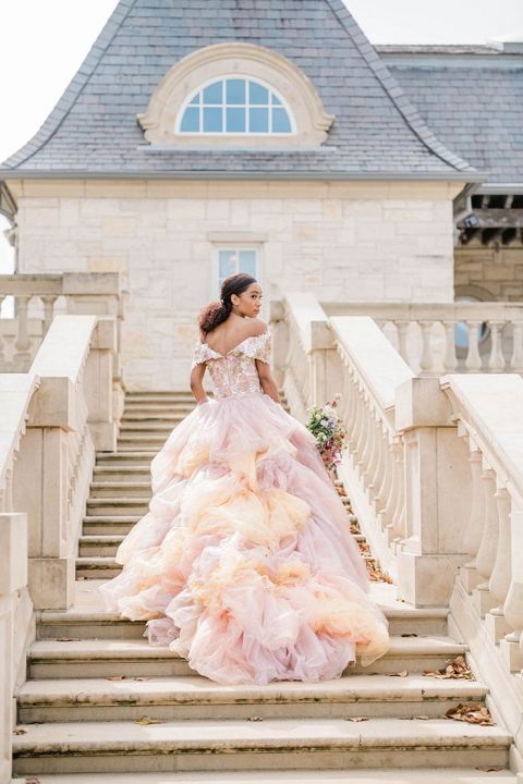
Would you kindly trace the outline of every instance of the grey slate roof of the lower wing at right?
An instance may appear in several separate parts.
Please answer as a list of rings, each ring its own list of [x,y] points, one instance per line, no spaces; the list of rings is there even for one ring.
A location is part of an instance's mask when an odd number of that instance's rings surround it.
[[[376,48],[438,138],[489,183],[523,185],[523,47]]]

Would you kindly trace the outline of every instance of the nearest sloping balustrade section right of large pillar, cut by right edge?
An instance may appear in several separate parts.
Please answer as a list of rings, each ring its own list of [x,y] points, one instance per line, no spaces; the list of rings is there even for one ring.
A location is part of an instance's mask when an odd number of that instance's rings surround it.
[[[466,444],[470,556],[460,581],[510,671],[523,669],[523,379],[441,380]]]

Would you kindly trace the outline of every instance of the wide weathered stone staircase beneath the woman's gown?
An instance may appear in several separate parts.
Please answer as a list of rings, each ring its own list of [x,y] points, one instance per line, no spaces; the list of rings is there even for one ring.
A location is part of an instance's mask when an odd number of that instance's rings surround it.
[[[96,587],[118,573],[118,544],[147,511],[150,460],[193,405],[184,393],[127,394],[118,451],[97,456],[76,599],[38,614],[17,696],[20,782],[515,783],[502,726],[446,718],[459,703],[491,708],[485,685],[424,674],[466,654],[447,611],[411,608],[392,585],[372,587],[390,624],[387,656],[320,684],[212,683],[149,647],[143,623],[102,610]]]

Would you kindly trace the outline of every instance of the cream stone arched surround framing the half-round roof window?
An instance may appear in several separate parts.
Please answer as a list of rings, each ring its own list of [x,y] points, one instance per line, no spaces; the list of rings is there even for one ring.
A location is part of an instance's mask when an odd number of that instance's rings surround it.
[[[177,122],[188,96],[204,83],[238,75],[266,83],[282,100],[294,123],[291,134],[177,133]],[[183,58],[163,76],[147,111],[137,117],[145,138],[169,147],[319,147],[335,120],[327,114],[311,79],[283,56],[252,44],[215,44]]]

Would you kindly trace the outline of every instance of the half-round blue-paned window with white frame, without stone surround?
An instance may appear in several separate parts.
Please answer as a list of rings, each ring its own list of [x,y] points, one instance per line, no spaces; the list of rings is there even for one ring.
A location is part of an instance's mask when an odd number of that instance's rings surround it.
[[[191,96],[180,112],[181,134],[291,134],[284,101],[267,84],[231,75]]]

